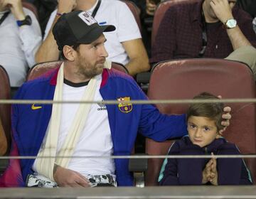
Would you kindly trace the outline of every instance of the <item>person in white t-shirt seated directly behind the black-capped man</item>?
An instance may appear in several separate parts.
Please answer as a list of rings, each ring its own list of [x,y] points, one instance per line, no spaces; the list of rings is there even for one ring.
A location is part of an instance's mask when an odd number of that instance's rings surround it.
[[[61,14],[73,9],[88,11],[100,25],[117,27],[112,33],[104,33],[107,38],[105,48],[112,62],[125,65],[130,75],[149,70],[149,58],[134,16],[124,2],[117,0],[59,0],[58,8],[53,11],[46,26],[43,43],[36,53],[37,63],[58,60],[59,51],[51,29]]]

